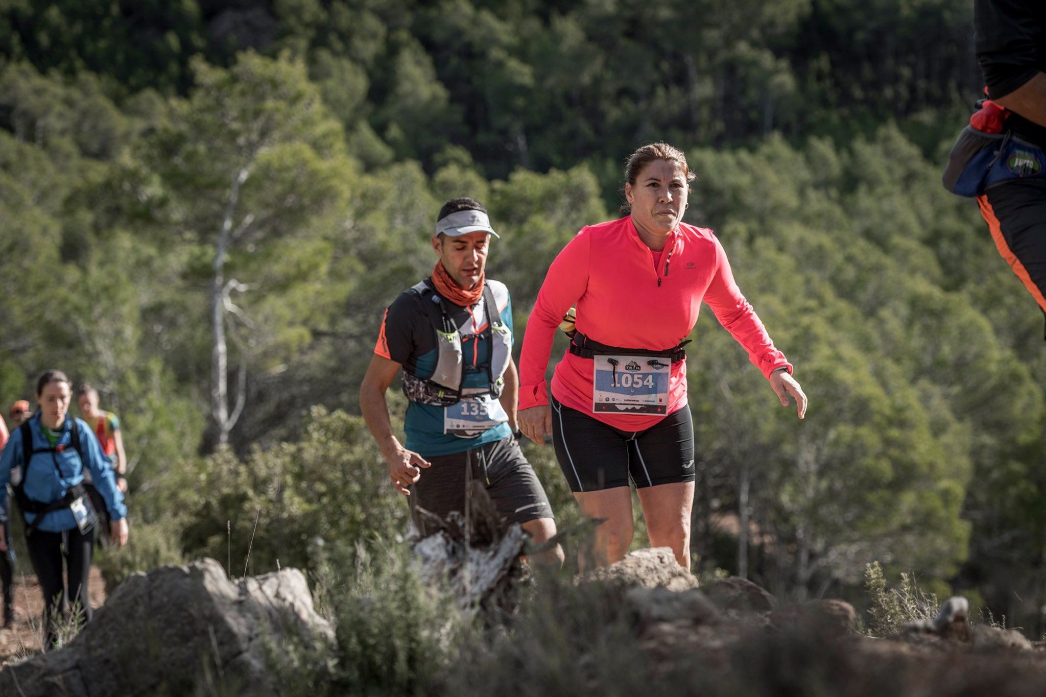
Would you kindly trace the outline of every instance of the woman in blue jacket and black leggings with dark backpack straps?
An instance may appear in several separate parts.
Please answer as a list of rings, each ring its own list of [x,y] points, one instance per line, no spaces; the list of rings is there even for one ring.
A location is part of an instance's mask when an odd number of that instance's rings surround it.
[[[0,454],[0,515],[6,516],[6,484],[15,491],[25,519],[29,561],[44,595],[47,641],[56,634],[52,614],[68,618],[70,610],[84,622],[91,619],[88,602],[88,572],[97,530],[97,514],[84,489],[84,470],[89,469],[94,485],[112,519],[113,541],[122,547],[128,539],[127,507],[116,487],[109,460],[98,439],[87,424],[67,416],[72,387],[65,373],[48,370],[37,381],[36,415],[16,428]],[[0,550],[10,540],[0,528]],[[68,593],[62,574],[65,559]],[[69,601],[72,601],[70,608]]]

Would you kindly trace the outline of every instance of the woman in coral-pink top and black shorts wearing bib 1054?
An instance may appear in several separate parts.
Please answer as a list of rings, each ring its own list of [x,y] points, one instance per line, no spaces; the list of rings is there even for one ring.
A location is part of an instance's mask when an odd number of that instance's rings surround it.
[[[527,322],[520,361],[519,423],[538,443],[552,435],[560,467],[596,528],[596,562],[620,560],[632,542],[635,484],[651,544],[670,547],[689,568],[693,423],[686,403],[686,336],[702,301],[748,351],[799,418],[806,397],[792,365],[737,288],[710,230],[682,223],[686,158],[644,145],[624,169],[630,214],[583,228],[552,262]],[[556,327],[576,305],[576,333],[545,369]]]

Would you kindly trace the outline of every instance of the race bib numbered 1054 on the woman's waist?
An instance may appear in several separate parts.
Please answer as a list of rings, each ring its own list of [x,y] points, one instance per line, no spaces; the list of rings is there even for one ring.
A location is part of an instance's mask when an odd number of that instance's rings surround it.
[[[667,414],[667,358],[649,355],[595,355],[592,358],[592,411]]]

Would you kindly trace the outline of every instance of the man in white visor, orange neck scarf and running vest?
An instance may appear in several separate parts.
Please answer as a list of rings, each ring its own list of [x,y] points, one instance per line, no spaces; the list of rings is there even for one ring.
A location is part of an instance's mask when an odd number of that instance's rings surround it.
[[[360,406],[392,486],[415,506],[463,514],[470,482],[481,482],[502,517],[540,543],[555,534],[555,521],[518,442],[511,301],[504,283],[483,275],[492,235],[482,204],[444,204],[432,237],[438,260],[385,310]],[[401,368],[410,400],[405,444],[392,434],[385,401]],[[563,551],[546,560],[562,564]]]

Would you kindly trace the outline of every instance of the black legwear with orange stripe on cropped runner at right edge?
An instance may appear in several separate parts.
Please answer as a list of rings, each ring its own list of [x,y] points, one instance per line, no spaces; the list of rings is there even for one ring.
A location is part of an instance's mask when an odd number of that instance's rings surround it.
[[[999,254],[1046,312],[1046,179],[1015,179],[977,198]]]

